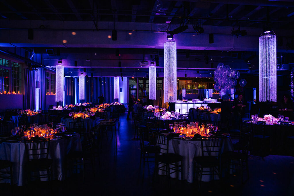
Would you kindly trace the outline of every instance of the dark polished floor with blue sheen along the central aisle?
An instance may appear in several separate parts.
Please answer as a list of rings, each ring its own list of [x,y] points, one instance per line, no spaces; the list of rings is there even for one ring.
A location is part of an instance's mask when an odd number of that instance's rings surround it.
[[[167,178],[156,176],[153,181],[154,163],[145,165],[145,175],[140,168],[140,143],[133,140],[134,130],[126,113],[121,114],[117,135],[117,152],[111,132],[103,135],[95,172],[86,167],[86,181],[82,175],[72,175],[65,181],[54,181],[52,191],[48,182],[29,185],[27,195],[294,195],[294,157],[269,155],[261,160],[249,158],[250,178],[240,185],[238,175],[215,182],[206,182],[197,192],[197,182],[188,183],[172,179],[168,189]],[[95,174],[95,177],[94,177]],[[24,187],[0,184],[0,195],[24,195]]]

